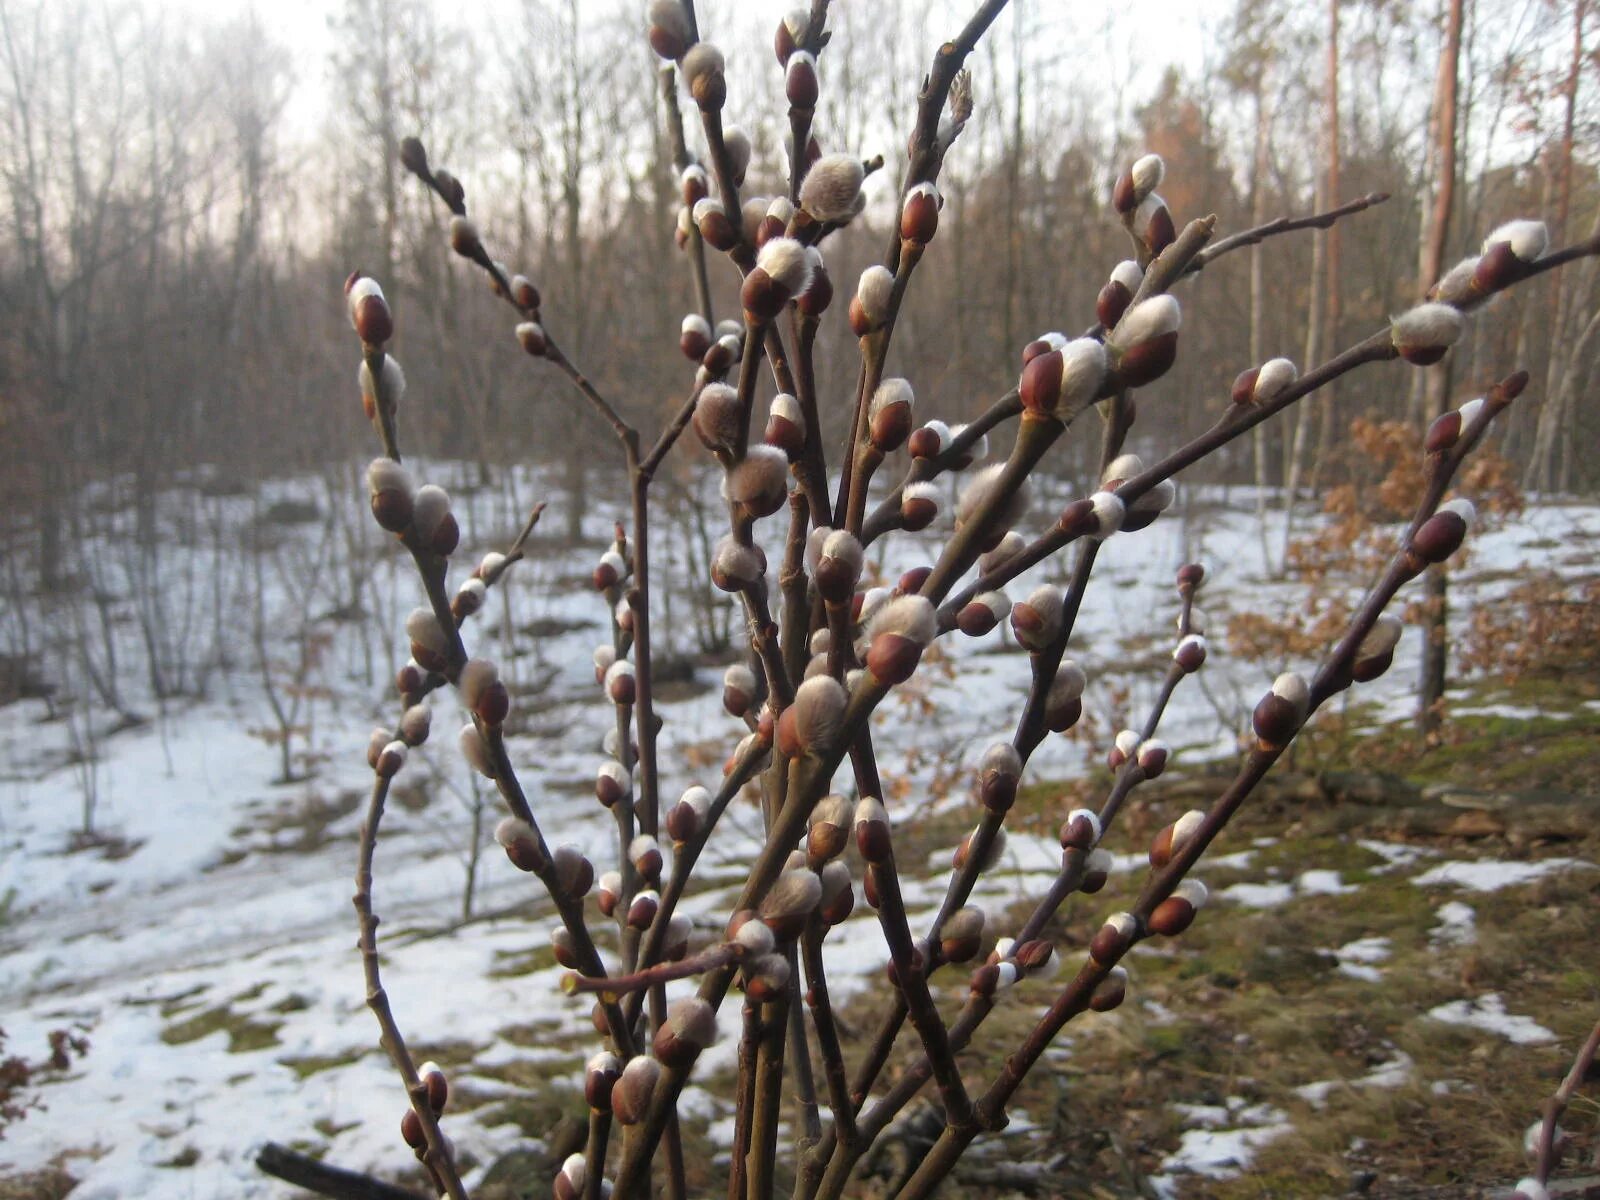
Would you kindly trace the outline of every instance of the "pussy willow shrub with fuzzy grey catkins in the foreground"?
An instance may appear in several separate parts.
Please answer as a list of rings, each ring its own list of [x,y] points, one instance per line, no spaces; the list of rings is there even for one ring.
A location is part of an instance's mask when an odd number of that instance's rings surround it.
[[[373,512],[411,554],[427,602],[408,621],[414,661],[398,677],[402,718],[394,733],[378,731],[370,752],[373,792],[358,846],[355,907],[368,1003],[410,1099],[405,1134],[442,1195],[466,1197],[453,1149],[440,1130],[443,1101],[435,1091],[442,1080],[435,1085],[430,1072],[419,1074],[389,1008],[373,906],[378,829],[390,779],[405,752],[427,738],[422,702],[434,690],[454,686],[472,710],[462,749],[494,781],[509,813],[496,837],[512,862],[534,874],[555,904],[562,920],[557,957],[571,968],[563,989],[594,1000],[597,1029],[614,1051],[614,1058],[597,1059],[586,1072],[586,1149],[581,1166],[563,1165],[566,1192],[558,1187],[558,1194],[598,1197],[613,1170],[611,1195],[619,1200],[646,1195],[658,1162],[666,1194],[688,1194],[677,1102],[699,1051],[714,1037],[718,1006],[739,986],[746,998],[728,1195],[768,1200],[787,1186],[790,1174],[795,1197],[845,1195],[866,1150],[931,1082],[942,1133],[898,1192],[907,1198],[930,1195],[978,1136],[1005,1125],[1008,1101],[1061,1029],[1085,1008],[1112,1008],[1122,1000],[1125,979],[1118,963],[1128,950],[1147,938],[1178,936],[1195,918],[1203,891],[1190,878],[1192,869],[1306,720],[1352,682],[1373,678],[1387,666],[1394,643],[1386,624],[1392,619],[1384,610],[1405,582],[1459,544],[1466,517],[1443,502],[1445,493],[1526,378],[1509,376],[1480,406],[1462,410],[1456,426],[1435,426],[1429,432],[1429,470],[1416,514],[1338,645],[1309,682],[1285,675],[1262,698],[1254,717],[1256,744],[1232,784],[1210,808],[1197,810],[1157,837],[1150,874],[1133,907],[1094,936],[1085,960],[1005,1059],[998,1077],[979,1088],[962,1067],[962,1051],[1019,979],[1050,978],[1061,968],[1059,950],[1045,930],[1074,894],[1093,893],[1104,882],[1102,840],[1128,795],[1160,774],[1168,755],[1157,738],[1160,722],[1182,680],[1205,661],[1203,638],[1190,622],[1203,570],[1187,565],[1178,576],[1179,640],[1173,664],[1142,725],[1118,734],[1110,789],[1098,808],[1069,814],[1061,832],[1061,869],[1050,888],[1014,936],[994,944],[987,958],[979,960],[990,934],[981,910],[970,904],[971,896],[1000,850],[1006,813],[1032,752],[1051,731],[1070,728],[1082,712],[1083,674],[1066,651],[1099,544],[1155,520],[1170,501],[1173,475],[1306,395],[1371,363],[1397,357],[1419,365],[1435,362],[1459,333],[1462,312],[1563,262],[1600,254],[1600,237],[1531,256],[1507,258],[1504,246],[1488,248],[1470,282],[1456,280],[1429,309],[1397,318],[1390,328],[1304,374],[1270,363],[1246,371],[1211,429],[1146,466],[1123,454],[1123,446],[1134,421],[1136,390],[1157,379],[1176,354],[1176,302],[1168,293],[1229,251],[1296,230],[1326,229],[1386,197],[1371,194],[1322,213],[1278,218],[1216,237],[1214,218],[1173,229],[1154,194],[1162,166],[1158,160],[1154,166],[1152,160],[1141,160],[1118,179],[1115,198],[1134,246],[1133,277],[1118,267],[1101,293],[1096,323],[1082,338],[1030,344],[1018,386],[966,427],[949,435],[939,435],[933,426],[917,430],[901,482],[878,488],[882,494],[872,504],[877,470],[907,445],[910,432],[909,386],[901,392],[904,381],[886,379],[885,365],[901,304],[936,227],[942,162],[973,110],[965,61],[1003,8],[1005,0],[979,5],[962,32],[938,50],[918,94],[899,186],[899,219],[878,274],[870,285],[862,277],[851,304],[861,362],[832,493],[813,362],[832,294],[821,248],[859,210],[851,186],[859,194],[861,181],[882,160],[861,163],[834,155],[813,162],[808,149],[816,61],[830,37],[827,0],[813,0],[810,11],[786,19],[779,30],[790,101],[790,178],[787,200],[774,203],[760,219],[746,219],[741,206],[742,150],[731,126],[723,123],[726,83],[720,53],[701,42],[693,3],[651,6],[651,42],[666,58],[677,59],[677,67],[662,67],[659,85],[672,160],[683,187],[686,216],[680,234],[699,323],[685,323],[683,349],[696,363],[693,382],[648,445],[626,411],[557,344],[542,320],[538,288],[490,254],[467,216],[461,182],[430,166],[421,142],[406,139],[402,146],[406,168],[450,210],[454,251],[480,267],[493,291],[514,309],[523,349],[565,374],[581,402],[611,430],[629,480],[630,528],[618,526],[595,571],[597,589],[613,614],[611,643],[597,651],[597,680],[614,706],[616,720],[616,762],[602,768],[597,797],[613,810],[619,851],[616,877],[602,877],[598,883],[597,899],[608,923],[598,926],[605,936],[597,938],[586,914],[594,867],[576,850],[546,842],[504,734],[509,696],[493,664],[472,659],[462,638],[464,622],[482,606],[485,592],[523,557],[542,506],[502,554],[486,557],[450,594],[450,558],[459,531],[448,498],[440,499],[443,493],[437,488],[413,490],[400,469],[400,382],[386,352],[392,320],[382,293],[360,277],[350,278],[350,315],[365,365],[363,398],[384,453],[370,470]],[[680,82],[699,110],[709,171],[696,162],[685,136]],[[821,182],[813,186],[816,179]],[[723,328],[712,325],[717,253],[728,259],[741,286],[742,318]],[[1438,290],[1446,290],[1446,283],[1440,282]],[[762,435],[766,445],[755,446],[750,432],[763,373],[792,405],[774,400]],[[899,403],[907,413],[896,408]],[[1070,504],[1048,531],[1024,541],[1011,526],[1030,475],[1090,408],[1102,418],[1101,488],[1093,498]],[[981,458],[986,438],[1013,421],[1018,424],[1010,454],[963,491],[955,533],[931,568],[907,576],[886,595],[859,592],[864,547],[898,530],[923,528],[928,512],[915,507],[930,502],[923,485],[970,466]],[[739,598],[750,662],[760,667],[760,677],[738,667],[726,678],[725,704],[746,723],[747,734],[730,757],[720,786],[698,795],[691,789],[667,805],[661,795],[661,722],[653,686],[650,488],[691,426],[726,475],[728,534],[712,563],[712,578]],[[774,603],[757,525],[784,507],[789,520]],[[1074,544],[1078,546],[1064,586],[1046,584],[1016,605],[1005,598],[1006,584]],[[880,800],[885,786],[870,718],[915,672],[934,640],[955,630],[981,635],[1006,616],[1029,654],[1032,682],[1014,733],[984,757],[978,779],[979,821],[957,853],[933,922],[918,936],[902,896],[890,813]],[[829,790],[846,760],[854,800]],[[760,848],[738,890],[725,936],[691,952],[678,909],[720,818],[752,787],[760,794]],[[851,835],[866,862],[862,883],[877,909],[893,984],[888,1011],[854,1072],[830,1000],[824,954],[829,930],[854,904],[854,882],[838,858]],[[670,840],[670,869],[659,838]],[[602,942],[608,947],[614,942],[614,966],[602,955]],[[976,968],[965,1000],[947,1019],[934,976],[970,962]],[[694,994],[669,1010],[667,984],[691,979],[699,981]],[[893,1083],[874,1096],[907,1024],[915,1034],[910,1058]],[[813,1038],[822,1094],[813,1075]],[[1597,1048],[1600,1027],[1546,1109],[1541,1182],[1554,1165],[1555,1122]],[[779,1158],[786,1082],[792,1082],[795,1106],[792,1170]],[[621,1128],[622,1136],[613,1138],[613,1128]]]

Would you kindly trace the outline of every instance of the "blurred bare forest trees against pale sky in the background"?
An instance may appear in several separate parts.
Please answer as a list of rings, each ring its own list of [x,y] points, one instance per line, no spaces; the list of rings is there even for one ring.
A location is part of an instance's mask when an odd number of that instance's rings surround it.
[[[738,30],[718,40],[741,94],[770,98],[749,130],[754,192],[782,178],[787,122],[766,48],[779,8],[706,5],[707,21]],[[1138,27],[1018,0],[973,62],[976,118],[942,181],[958,219],[923,267],[930,280],[902,315],[890,368],[918,379],[920,411],[962,421],[1014,381],[1022,342],[1088,325],[1125,253],[1109,184],[1144,149],[1168,162],[1179,222],[1202,197],[1224,230],[1373,190],[1392,198],[1283,242],[1270,274],[1238,254],[1197,280],[1186,302],[1210,318],[1194,322],[1182,370],[1158,389],[1163,419],[1139,422],[1141,453],[1208,424],[1242,366],[1326,357],[1400,310],[1435,261],[1454,262],[1501,219],[1544,216],[1555,242],[1587,234],[1600,219],[1592,8],[1218,3],[1205,18],[1205,69],[1146,72],[1152,83],[1136,93],[1107,88],[1082,62],[1131,62]],[[843,86],[824,90],[826,149],[882,152],[883,176],[898,174],[915,70],[883,56],[925,61],[957,11],[835,5],[826,72]],[[219,498],[266,478],[326,472],[330,488],[355,486],[341,472],[366,430],[346,398],[338,285],[357,267],[384,280],[397,309],[418,437],[474,464],[486,486],[512,461],[558,466],[576,534],[589,477],[610,462],[608,435],[560,381],[514,362],[493,298],[435,253],[437,210],[397,178],[405,133],[461,173],[494,243],[515,248],[512,266],[544,290],[563,344],[608,395],[635,414],[680,398],[690,285],[638,14],[576,0],[496,13],[488,24],[470,5],[342,0],[318,62],[250,10],[202,19],[139,0],[0,0],[0,496],[13,515],[3,582],[30,606],[98,597],[139,629],[133,662],[112,661],[115,640],[91,627],[59,638],[48,662],[46,630],[13,618],[0,646],[10,662],[72,674],[78,690],[98,680],[99,698],[130,717],[141,714],[128,672],[157,701],[208,685],[229,654],[221,613],[253,573],[219,544],[208,578],[174,579],[163,546],[218,536]],[[1456,115],[1442,134],[1435,85],[1453,13]],[[870,37],[858,35],[867,22]],[[310,118],[293,104],[304,88],[323,98]],[[880,202],[888,190],[869,187]],[[888,216],[872,205],[838,237],[840,286],[878,253]],[[718,315],[734,315],[731,275],[712,283]],[[1354,419],[1421,422],[1518,363],[1539,386],[1494,450],[1526,488],[1592,493],[1600,462],[1581,451],[1600,437],[1600,408],[1584,402],[1600,382],[1597,291],[1594,262],[1554,272],[1501,301],[1510,312],[1499,320],[1474,325],[1438,397],[1341,389],[1189,482],[1256,483],[1262,510],[1296,498],[1309,509],[1307,494],[1370,474],[1347,437]],[[445,302],[414,302],[422,294]],[[819,384],[842,410],[850,334],[830,320],[824,338],[835,346],[819,362],[840,374]],[[614,344],[626,352],[600,354]],[[1082,472],[1088,453],[1066,448],[1061,469]],[[83,539],[90,530],[115,530],[109,554]],[[360,573],[346,582],[330,605],[362,603]]]

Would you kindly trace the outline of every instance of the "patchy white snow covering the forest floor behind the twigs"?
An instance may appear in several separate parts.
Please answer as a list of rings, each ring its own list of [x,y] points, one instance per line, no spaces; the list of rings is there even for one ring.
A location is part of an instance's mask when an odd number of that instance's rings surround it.
[[[421,474],[456,482],[448,466],[421,464]],[[269,530],[242,498],[206,501],[214,517],[211,536],[186,534],[173,522],[162,570],[187,581],[184,595],[190,600],[214,587],[226,616],[218,622],[226,634],[221,642],[208,642],[203,621],[174,624],[174,613],[168,613],[166,624],[158,622],[157,632],[182,642],[184,661],[210,664],[206,698],[182,702],[157,702],[141,685],[141,670],[128,666],[142,661],[144,626],[134,619],[131,586],[139,565],[123,552],[126,526],[117,525],[123,517],[115,506],[102,506],[102,523],[90,534],[99,541],[85,554],[99,571],[102,594],[122,608],[106,637],[91,643],[91,654],[99,646],[96,664],[115,669],[123,707],[146,720],[112,734],[115,718],[102,707],[80,707],[66,718],[53,717],[38,701],[0,709],[0,1011],[6,1014],[8,1050],[37,1054],[46,1032],[64,1026],[82,1026],[91,1040],[88,1056],[43,1090],[46,1107],[8,1131],[0,1166],[32,1168],[61,1155],[83,1181],[75,1195],[98,1200],[288,1195],[251,1165],[253,1147],[269,1138],[357,1170],[408,1165],[410,1155],[394,1134],[405,1101],[376,1048],[376,1026],[363,1003],[350,893],[371,778],[363,750],[374,723],[395,720],[389,678],[405,658],[400,629],[419,590],[410,565],[366,525],[354,486],[341,491],[330,485],[328,493],[317,493],[306,482],[283,482],[266,501],[317,496],[325,520],[339,512],[330,504],[349,504],[357,522],[349,544],[365,547],[366,558],[317,558],[309,550],[296,557],[302,542],[315,542],[320,554],[341,554],[346,542],[338,525]],[[522,474],[502,478],[498,490],[454,491],[464,547],[472,549],[464,549],[458,563],[504,544],[525,506],[544,494],[538,477]],[[1038,512],[1048,514],[1064,494],[1045,498]],[[1082,770],[1090,755],[1104,752],[1117,728],[1142,720],[1173,637],[1171,576],[1181,562],[1208,565],[1203,602],[1213,650],[1206,670],[1179,690],[1163,722],[1162,736],[1176,747],[1179,762],[1230,752],[1270,678],[1286,666],[1309,666],[1242,662],[1227,653],[1226,597],[1248,597],[1256,606],[1290,597],[1293,589],[1264,578],[1264,541],[1248,493],[1186,499],[1194,502],[1181,502],[1150,530],[1106,544],[1072,643],[1090,675],[1085,706],[1094,738],[1050,739],[1030,765],[1032,778]],[[594,504],[586,530],[598,542],[621,515]],[[1046,520],[1037,517],[1038,528]],[[682,562],[688,554],[682,531],[691,528],[664,506],[658,562]],[[1600,509],[1530,509],[1517,525],[1477,539],[1477,566],[1501,570],[1530,554],[1533,542],[1568,536],[1573,528],[1600,534]],[[1269,530],[1266,544],[1280,541],[1280,533]],[[288,590],[301,586],[296,581],[310,581],[307,610],[330,614],[315,622],[331,642],[307,678],[317,690],[312,709],[299,717],[304,728],[298,742],[310,755],[312,776],[296,784],[274,782],[278,752],[262,738],[272,722],[256,654],[246,646],[253,619],[248,584],[251,566],[259,563],[246,546],[278,547],[266,573],[264,602],[274,658],[286,653],[282,635],[286,614],[296,611]],[[891,546],[878,565],[888,579],[931,558],[928,538]],[[512,738],[512,749],[528,766],[523,782],[547,837],[582,846],[603,869],[613,861],[614,832],[597,811],[590,787],[610,715],[595,702],[590,651],[608,640],[608,626],[595,595],[573,584],[587,576],[595,555],[595,549],[536,547],[506,589],[515,624],[506,624],[506,608],[494,597],[469,627],[469,645],[501,662],[515,685],[518,712],[536,712],[530,731]],[[461,570],[458,565],[454,578]],[[1046,565],[1010,590],[1022,595],[1062,574],[1064,566]],[[371,616],[339,621],[333,614],[352,587]],[[1461,595],[1470,592],[1462,589]],[[658,658],[693,651],[690,602],[661,594],[654,603],[664,638]],[[1464,619],[1466,611],[1462,603],[1453,618]],[[93,618],[93,610],[88,614]],[[14,614],[0,616],[0,632],[6,645],[19,645]],[[227,661],[219,648],[232,648]],[[1416,653],[1418,637],[1408,632],[1395,669],[1365,694],[1403,706]],[[1027,686],[1026,658],[998,632],[976,642],[952,640],[944,654],[942,664],[930,656],[906,690],[907,699],[885,706],[877,723],[896,821],[914,821],[928,805],[970,803],[971,768],[990,741],[1010,734]],[[720,670],[698,666],[694,686],[670,691],[659,706],[666,798],[693,782],[714,782],[741,733],[722,714]],[[922,685],[934,675],[938,690]],[[285,682],[280,672],[280,686]],[[378,850],[374,899],[382,918],[384,982],[397,1019],[421,1050],[451,1064],[459,1090],[491,1098],[506,1090],[502,1077],[512,1070],[542,1077],[550,1088],[571,1086],[594,1046],[587,1005],[557,990],[560,971],[547,958],[549,906],[530,899],[528,880],[494,846],[483,850],[477,864],[477,918],[450,936],[435,936],[461,909],[464,867],[474,856],[470,808],[482,790],[456,750],[461,712],[448,696],[435,696],[432,704],[434,736],[398,779]],[[90,760],[77,754],[75,747],[85,746],[94,752]],[[845,784],[843,776],[838,784]],[[72,850],[86,795],[96,798],[96,829],[114,840]],[[493,821],[490,806],[486,827]],[[712,886],[690,898],[685,910],[699,918],[707,936],[726,912],[758,832],[754,810],[734,806],[702,859]],[[1107,845],[1117,853],[1118,870],[1144,869],[1142,845],[1123,843],[1115,830]],[[1416,858],[1403,850],[1378,853],[1403,870]],[[1059,862],[1059,846],[1050,838],[1018,837],[1006,854],[1003,869],[978,896],[992,910],[1037,894]],[[1235,869],[1250,866],[1250,850],[1227,845],[1226,835],[1219,854]],[[941,854],[926,877],[907,880],[907,904],[918,922],[936,909],[947,869],[947,854]],[[1466,872],[1448,882],[1474,878]],[[1250,893],[1237,890],[1250,886],[1272,888],[1274,896],[1277,890],[1347,890],[1334,872],[1314,870],[1293,885],[1235,885],[1224,894],[1245,896]],[[1448,907],[1440,910],[1446,923]],[[883,986],[882,939],[864,906],[827,947],[837,994]],[[1350,962],[1363,960],[1352,955]],[[723,1040],[709,1064],[731,1066],[736,1021],[736,1006],[726,1005]],[[726,1130],[726,1101],[714,1090],[696,1090],[691,1099],[706,1120]],[[470,1149],[478,1163],[523,1142],[514,1126],[485,1123],[490,1107],[446,1120],[458,1146]],[[1171,1179],[1181,1171],[1237,1170],[1251,1147],[1275,1136],[1280,1120],[1274,1110],[1230,1106],[1229,1128],[1190,1130],[1163,1171]]]

